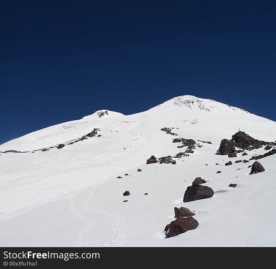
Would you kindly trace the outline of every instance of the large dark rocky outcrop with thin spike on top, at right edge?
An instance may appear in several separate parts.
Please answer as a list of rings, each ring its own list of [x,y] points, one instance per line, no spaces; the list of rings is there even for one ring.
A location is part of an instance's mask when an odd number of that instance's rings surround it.
[[[236,134],[232,135],[232,139],[223,139],[220,142],[220,147],[216,154],[218,155],[233,155],[233,153],[240,153],[244,150],[253,150],[258,149],[262,146],[273,146],[276,145],[275,142],[265,142],[262,140],[257,140],[251,137],[250,135],[246,134],[245,132],[239,131]],[[241,150],[236,150],[239,148]],[[236,156],[229,156],[229,157],[236,157]]]

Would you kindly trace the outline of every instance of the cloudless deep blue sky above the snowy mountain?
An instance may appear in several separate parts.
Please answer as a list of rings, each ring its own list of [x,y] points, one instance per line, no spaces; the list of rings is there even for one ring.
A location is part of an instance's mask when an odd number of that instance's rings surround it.
[[[274,1],[5,1],[0,144],[191,94],[276,120]]]

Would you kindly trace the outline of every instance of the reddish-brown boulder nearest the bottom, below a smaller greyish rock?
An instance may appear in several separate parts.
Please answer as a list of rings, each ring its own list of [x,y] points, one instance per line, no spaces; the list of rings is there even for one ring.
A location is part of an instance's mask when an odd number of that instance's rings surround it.
[[[169,238],[183,234],[188,230],[194,230],[198,225],[199,223],[193,217],[182,218],[179,216],[165,227],[166,237]]]

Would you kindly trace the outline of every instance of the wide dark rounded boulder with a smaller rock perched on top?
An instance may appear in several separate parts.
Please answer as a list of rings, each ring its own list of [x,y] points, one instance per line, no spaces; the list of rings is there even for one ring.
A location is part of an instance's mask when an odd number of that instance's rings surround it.
[[[192,185],[187,187],[184,193],[183,202],[191,202],[206,198],[211,198],[214,195],[214,191],[208,186]]]

